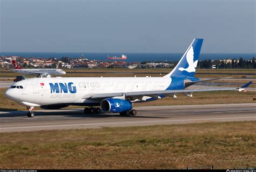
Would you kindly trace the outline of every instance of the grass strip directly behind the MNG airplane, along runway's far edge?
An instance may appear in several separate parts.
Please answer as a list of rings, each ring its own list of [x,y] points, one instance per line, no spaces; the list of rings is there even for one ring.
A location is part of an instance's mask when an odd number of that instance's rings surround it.
[[[25,106],[18,105],[4,95],[6,88],[0,88],[0,110],[26,110]],[[134,106],[159,106],[159,105],[189,105],[189,104],[224,104],[224,103],[256,103],[255,91],[212,91],[195,92],[193,97],[187,97],[183,94],[177,94],[176,99],[166,97],[153,102],[135,103]],[[83,107],[83,106],[82,106]],[[66,108],[81,108],[81,106],[69,106]],[[39,109],[36,107],[35,109]]]

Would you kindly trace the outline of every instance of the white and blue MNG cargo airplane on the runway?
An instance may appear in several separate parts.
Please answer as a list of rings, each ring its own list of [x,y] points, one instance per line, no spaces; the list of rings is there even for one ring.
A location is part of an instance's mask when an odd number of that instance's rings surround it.
[[[34,106],[60,109],[69,105],[89,106],[85,113],[120,113],[135,116],[134,102],[153,101],[181,93],[237,90],[238,88],[187,89],[190,85],[209,80],[194,77],[203,39],[194,39],[171,73],[164,77],[40,77],[19,81],[5,95],[27,106],[33,117]],[[210,80],[218,80],[214,78]],[[251,82],[241,88],[248,87]],[[94,107],[99,106],[99,107]]]

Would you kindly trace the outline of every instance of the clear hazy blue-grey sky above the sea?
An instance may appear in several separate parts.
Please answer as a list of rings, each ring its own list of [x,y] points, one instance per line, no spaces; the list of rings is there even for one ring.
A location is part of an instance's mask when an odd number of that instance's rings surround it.
[[[255,0],[0,1],[0,52],[256,52]]]

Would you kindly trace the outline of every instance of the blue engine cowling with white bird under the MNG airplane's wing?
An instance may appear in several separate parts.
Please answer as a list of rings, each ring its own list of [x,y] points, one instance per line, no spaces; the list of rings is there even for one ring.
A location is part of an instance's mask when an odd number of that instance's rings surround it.
[[[129,101],[125,101],[117,98],[106,98],[100,103],[100,109],[103,112],[120,113],[131,110],[133,104]]]

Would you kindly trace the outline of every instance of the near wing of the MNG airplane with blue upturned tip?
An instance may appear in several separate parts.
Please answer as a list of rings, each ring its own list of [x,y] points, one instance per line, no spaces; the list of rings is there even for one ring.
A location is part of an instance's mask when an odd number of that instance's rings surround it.
[[[242,87],[248,87],[252,82],[248,82]],[[132,97],[132,96],[152,96],[152,95],[170,95],[177,93],[206,92],[206,91],[228,91],[238,90],[239,88],[213,88],[213,89],[180,89],[180,90],[161,90],[161,91],[137,91],[137,92],[114,92],[114,93],[90,93],[84,95],[83,99],[104,99],[110,97]]]

